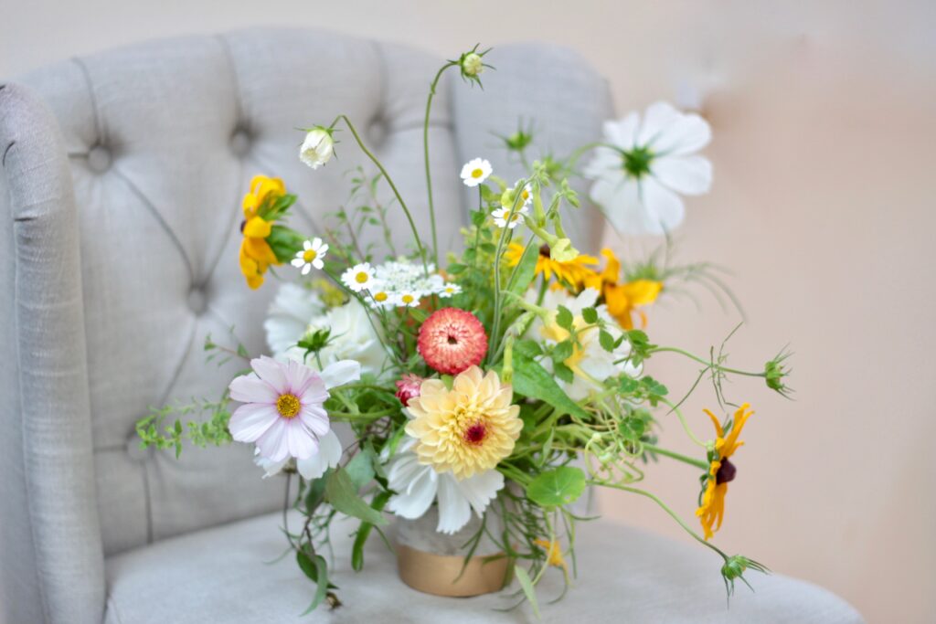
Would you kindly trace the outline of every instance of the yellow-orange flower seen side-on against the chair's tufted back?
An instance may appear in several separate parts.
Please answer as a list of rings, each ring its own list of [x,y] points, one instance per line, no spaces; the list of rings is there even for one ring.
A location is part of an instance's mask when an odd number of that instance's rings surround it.
[[[250,191],[243,196],[243,240],[238,259],[241,273],[251,288],[260,287],[263,274],[270,265],[281,264],[267,242],[273,222],[267,221],[264,215],[271,202],[284,196],[285,191],[285,185],[279,178],[255,176],[250,181]]]

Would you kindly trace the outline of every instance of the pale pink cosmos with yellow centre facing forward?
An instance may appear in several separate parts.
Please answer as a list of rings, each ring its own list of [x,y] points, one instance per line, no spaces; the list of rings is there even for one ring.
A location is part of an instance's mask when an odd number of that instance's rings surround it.
[[[256,443],[271,461],[308,459],[330,429],[323,404],[329,388],[360,378],[358,362],[344,360],[318,372],[299,362],[261,356],[250,361],[254,372],[230,383],[231,399],[243,405],[231,414],[228,428],[238,442]]]

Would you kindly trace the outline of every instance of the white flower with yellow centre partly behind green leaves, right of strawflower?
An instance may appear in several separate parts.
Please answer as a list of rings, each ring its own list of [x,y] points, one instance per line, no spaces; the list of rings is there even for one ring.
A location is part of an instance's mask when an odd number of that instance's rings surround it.
[[[607,308],[604,305],[595,306],[598,296],[598,291],[593,288],[586,288],[578,297],[573,297],[564,290],[547,291],[542,306],[552,312],[545,320],[536,317],[526,334],[534,341],[543,342],[548,353],[556,344],[569,338],[569,332],[556,323],[555,311],[558,311],[559,306],[563,306],[572,312],[572,325],[579,330],[580,346],[576,347],[573,355],[569,356],[563,364],[572,370],[574,377],[571,384],[558,376],[555,379],[565,394],[573,400],[585,399],[592,391],[601,390],[604,387],[603,382],[608,377],[616,377],[622,372],[630,377],[638,377],[641,372],[640,367],[621,361],[631,353],[631,345],[628,341],[622,341],[613,352],[605,351],[598,340],[600,330],[589,326],[583,318],[582,311],[585,308],[595,308],[598,316],[606,321],[606,331],[615,340],[621,337],[622,331],[607,313]],[[528,297],[535,297],[535,293]],[[615,362],[621,363],[615,364]],[[553,371],[551,357],[541,356],[539,363],[549,372]]]

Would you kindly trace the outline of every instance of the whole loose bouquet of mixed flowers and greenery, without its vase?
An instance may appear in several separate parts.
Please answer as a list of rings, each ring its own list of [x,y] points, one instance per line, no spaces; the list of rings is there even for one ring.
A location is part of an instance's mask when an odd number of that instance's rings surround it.
[[[426,130],[442,75],[452,68],[480,84],[487,53],[475,47],[442,67],[431,83]],[[709,142],[708,123],[654,104],[643,115],[607,122],[601,141],[565,157],[534,160],[533,132],[521,126],[503,142],[523,165],[522,179],[504,180],[483,158],[461,168],[461,181],[476,190],[477,209],[462,230],[463,251],[446,257],[436,240],[428,138],[431,227],[425,232],[344,115],[305,130],[302,162],[313,169],[331,162],[342,125],[378,171],[373,177],[355,172],[352,196],[359,205],[336,215],[345,236],[339,229],[307,236],[287,225],[296,197],[279,179],[257,176],[244,196],[240,266],[247,286],[260,287],[280,267],[295,270],[299,281],[280,286],[265,322],[271,356],[251,357],[241,345],[209,338],[210,358],[242,357],[249,369],[218,401],[168,407],[142,419],[142,444],[177,454],[184,440],[253,444],[266,475],[286,475],[287,497],[298,478],[298,493],[286,506],[302,522],[284,530],[301,571],[314,582],[310,610],[321,602],[340,604],[320,552],[336,515],[359,521],[351,552],[359,570],[363,545],[374,532],[383,535],[387,513],[418,518],[433,505],[444,533],[461,530],[472,515],[499,515],[503,530],[495,533],[482,521],[464,544],[466,560],[487,534],[512,563],[518,595],[537,609],[536,586],[550,568],[563,574],[566,586],[574,575],[576,525],[585,519],[574,503],[588,486],[659,504],[722,559],[729,595],[745,572],[766,572],[710,542],[737,473],[739,435],[753,414],[748,403],[724,398],[722,382],[732,375],[761,377],[786,394],[788,354],[761,370],[737,370],[725,365],[724,342],[708,357],[654,344],[645,330],[651,304],[684,283],[727,293],[715,269],[675,266],[659,252],[622,262],[605,249],[599,260],[580,253],[563,230],[563,219],[580,201],[570,180],[584,177],[592,182],[592,201],[619,232],[668,234],[682,220],[680,195],[709,189],[711,167],[697,153]],[[393,205],[377,198],[383,184]],[[407,220],[410,253],[393,247],[390,210]],[[364,227],[382,230],[386,249],[361,249],[356,234]],[[681,399],[644,372],[651,357],[665,355],[701,367]],[[680,410],[706,376],[720,411],[706,411],[708,438],[696,435]],[[210,417],[187,424],[173,419],[193,411]],[[670,418],[697,445],[697,457],[659,444],[658,423]],[[339,439],[335,423],[350,426],[350,442]],[[637,486],[660,458],[699,471],[701,535]]]

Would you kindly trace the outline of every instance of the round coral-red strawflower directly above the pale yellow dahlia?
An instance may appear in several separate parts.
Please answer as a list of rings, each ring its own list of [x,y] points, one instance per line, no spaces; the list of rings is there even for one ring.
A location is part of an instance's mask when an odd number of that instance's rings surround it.
[[[417,350],[433,369],[457,375],[481,363],[488,353],[488,335],[471,312],[443,308],[419,327]]]

